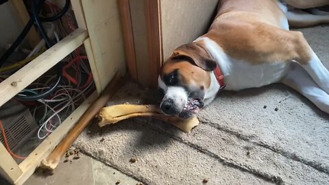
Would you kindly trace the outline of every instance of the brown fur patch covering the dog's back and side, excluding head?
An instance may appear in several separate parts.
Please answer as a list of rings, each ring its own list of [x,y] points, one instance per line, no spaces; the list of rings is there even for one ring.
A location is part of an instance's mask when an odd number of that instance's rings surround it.
[[[208,37],[223,51],[252,64],[310,60],[310,47],[300,32],[280,27],[284,16],[276,1],[223,0]],[[252,8],[250,8],[252,7]]]

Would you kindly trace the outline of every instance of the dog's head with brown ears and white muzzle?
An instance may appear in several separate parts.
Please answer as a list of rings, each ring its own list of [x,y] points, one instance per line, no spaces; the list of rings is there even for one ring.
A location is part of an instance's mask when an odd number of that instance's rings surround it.
[[[158,85],[164,91],[160,108],[164,114],[189,119],[204,107],[216,62],[202,45],[182,45],[164,62]]]

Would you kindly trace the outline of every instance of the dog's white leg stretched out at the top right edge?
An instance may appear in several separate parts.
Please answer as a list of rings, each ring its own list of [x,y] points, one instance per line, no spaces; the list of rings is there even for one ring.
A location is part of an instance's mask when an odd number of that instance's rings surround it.
[[[329,23],[329,14],[315,15],[302,10],[289,10],[287,18],[289,25],[293,27],[310,27],[321,23]]]

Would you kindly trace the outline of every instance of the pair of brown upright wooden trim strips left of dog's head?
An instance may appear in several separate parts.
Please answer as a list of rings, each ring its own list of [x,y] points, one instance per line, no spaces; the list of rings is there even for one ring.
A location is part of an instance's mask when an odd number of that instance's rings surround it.
[[[138,72],[145,73],[145,71],[137,70],[138,63],[136,62],[134,34],[130,14],[130,0],[118,1],[121,14],[121,24],[123,27],[127,68],[132,79],[139,82]],[[158,74],[160,73],[160,68],[163,62],[160,0],[144,0],[144,5],[147,34],[147,40],[145,40],[145,42],[147,42],[149,59],[149,80],[147,86],[156,88],[158,87]]]

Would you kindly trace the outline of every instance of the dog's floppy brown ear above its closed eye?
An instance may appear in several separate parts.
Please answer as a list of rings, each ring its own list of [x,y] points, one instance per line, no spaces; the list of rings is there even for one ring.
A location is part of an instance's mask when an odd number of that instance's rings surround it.
[[[205,71],[214,71],[217,67],[216,61],[210,57],[210,54],[194,42],[175,49],[171,59],[190,60]]]

